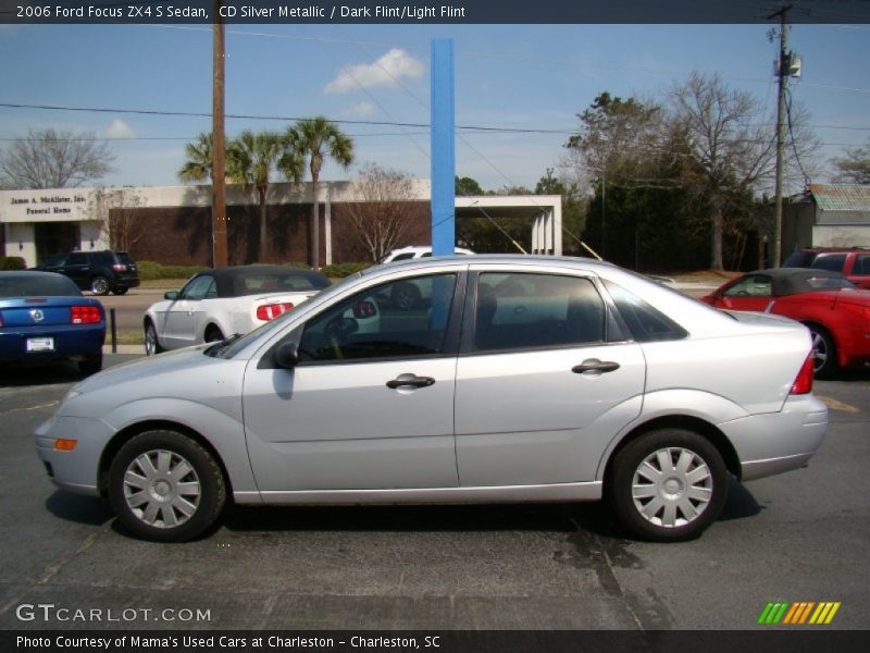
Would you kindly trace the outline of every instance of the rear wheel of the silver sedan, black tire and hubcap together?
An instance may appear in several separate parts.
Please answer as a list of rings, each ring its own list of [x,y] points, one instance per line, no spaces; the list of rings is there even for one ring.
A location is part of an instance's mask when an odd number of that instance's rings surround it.
[[[607,498],[632,535],[655,542],[697,538],[728,496],[728,471],[713,444],[693,431],[660,429],[617,453]]]

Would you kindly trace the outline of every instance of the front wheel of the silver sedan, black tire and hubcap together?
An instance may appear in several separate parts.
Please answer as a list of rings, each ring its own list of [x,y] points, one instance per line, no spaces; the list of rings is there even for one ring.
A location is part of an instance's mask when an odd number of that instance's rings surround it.
[[[109,501],[135,537],[186,542],[215,523],[226,503],[226,483],[199,443],[175,431],[147,431],[112,460]]]

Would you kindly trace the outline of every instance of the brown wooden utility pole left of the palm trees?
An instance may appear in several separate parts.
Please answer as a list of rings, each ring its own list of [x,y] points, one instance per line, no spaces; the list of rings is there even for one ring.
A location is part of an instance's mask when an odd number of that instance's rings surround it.
[[[224,20],[223,0],[214,0],[214,83],[212,85],[211,219],[212,266],[228,264],[226,254],[226,138],[224,136]]]

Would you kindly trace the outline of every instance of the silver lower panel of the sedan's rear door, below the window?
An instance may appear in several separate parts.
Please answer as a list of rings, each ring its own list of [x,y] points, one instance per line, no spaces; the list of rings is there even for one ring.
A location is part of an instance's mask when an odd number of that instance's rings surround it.
[[[588,360],[611,372],[572,372]],[[600,453],[643,405],[641,346],[467,356],[457,367],[462,486],[595,480]]]

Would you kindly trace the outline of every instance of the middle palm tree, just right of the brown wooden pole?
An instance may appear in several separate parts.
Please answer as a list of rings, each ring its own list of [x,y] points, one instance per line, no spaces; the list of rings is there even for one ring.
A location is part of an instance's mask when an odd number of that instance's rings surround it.
[[[269,175],[282,156],[284,141],[277,132],[244,131],[227,147],[229,177],[245,188],[254,188],[260,200],[260,261],[265,260],[268,249],[266,193]]]

